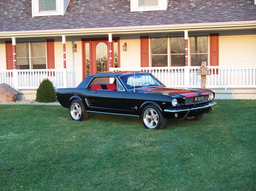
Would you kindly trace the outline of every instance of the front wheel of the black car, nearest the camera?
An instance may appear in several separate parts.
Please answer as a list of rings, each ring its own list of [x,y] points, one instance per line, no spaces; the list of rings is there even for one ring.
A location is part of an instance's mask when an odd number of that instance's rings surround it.
[[[147,129],[162,129],[167,122],[162,112],[154,105],[148,105],[142,110],[141,119]]]

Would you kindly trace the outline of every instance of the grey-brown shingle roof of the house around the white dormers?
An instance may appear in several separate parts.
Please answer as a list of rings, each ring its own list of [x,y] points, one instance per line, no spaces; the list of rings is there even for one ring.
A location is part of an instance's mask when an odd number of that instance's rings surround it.
[[[63,16],[31,11],[31,0],[1,0],[0,32],[256,21],[253,0],[169,0],[147,12],[130,12],[130,0],[70,0]]]

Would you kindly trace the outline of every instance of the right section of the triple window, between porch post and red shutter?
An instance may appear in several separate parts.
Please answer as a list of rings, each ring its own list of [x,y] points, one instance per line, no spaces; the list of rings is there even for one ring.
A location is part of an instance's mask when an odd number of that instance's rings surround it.
[[[208,63],[208,36],[190,37],[190,65]]]

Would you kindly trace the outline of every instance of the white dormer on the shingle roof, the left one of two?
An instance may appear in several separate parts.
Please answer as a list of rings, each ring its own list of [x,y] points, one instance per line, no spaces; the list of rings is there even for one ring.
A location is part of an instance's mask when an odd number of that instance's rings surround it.
[[[70,0],[32,0],[32,16],[64,15]]]

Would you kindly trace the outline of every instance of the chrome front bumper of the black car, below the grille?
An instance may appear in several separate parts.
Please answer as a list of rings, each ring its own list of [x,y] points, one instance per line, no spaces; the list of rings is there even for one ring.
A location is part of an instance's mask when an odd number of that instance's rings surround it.
[[[207,105],[203,106],[196,106],[196,107],[188,107],[188,108],[181,108],[181,109],[165,109],[164,112],[179,114],[179,113],[186,113],[183,118],[187,118],[190,113],[209,113],[211,110],[214,109],[214,105],[216,102],[211,102]]]

